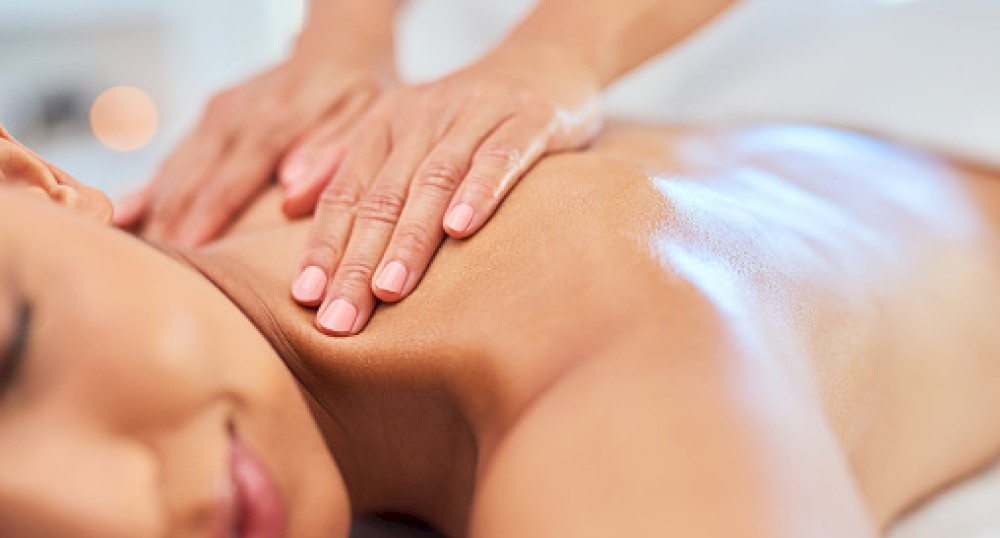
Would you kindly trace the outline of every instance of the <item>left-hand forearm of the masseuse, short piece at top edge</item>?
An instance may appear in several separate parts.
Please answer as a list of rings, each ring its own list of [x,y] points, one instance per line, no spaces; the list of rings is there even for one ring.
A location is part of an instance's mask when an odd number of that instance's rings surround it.
[[[346,59],[392,63],[393,26],[404,0],[312,0],[296,53],[336,51]]]

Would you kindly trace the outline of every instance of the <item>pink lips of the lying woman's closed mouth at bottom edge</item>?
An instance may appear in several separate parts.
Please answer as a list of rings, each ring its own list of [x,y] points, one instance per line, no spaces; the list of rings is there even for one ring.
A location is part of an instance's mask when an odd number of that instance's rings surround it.
[[[234,431],[230,460],[232,489],[222,538],[282,538],[285,506],[274,480]]]

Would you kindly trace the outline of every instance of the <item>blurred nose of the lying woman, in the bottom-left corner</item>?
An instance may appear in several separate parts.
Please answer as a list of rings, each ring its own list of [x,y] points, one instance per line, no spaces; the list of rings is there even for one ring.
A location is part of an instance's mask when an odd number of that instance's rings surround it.
[[[148,453],[57,417],[5,421],[0,445],[0,536],[157,536]]]

